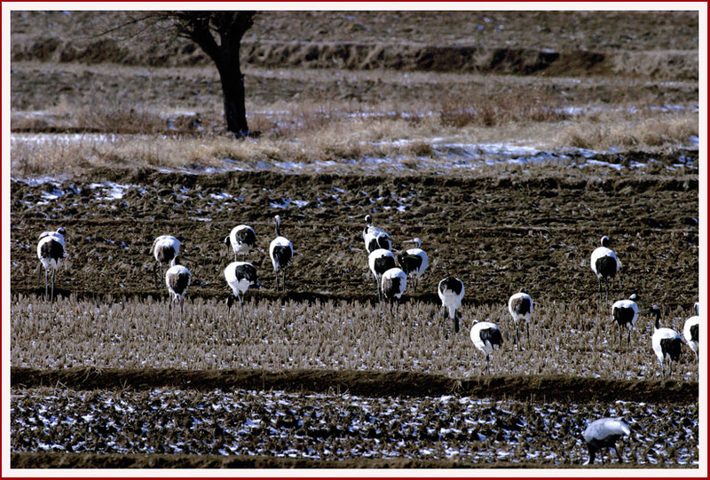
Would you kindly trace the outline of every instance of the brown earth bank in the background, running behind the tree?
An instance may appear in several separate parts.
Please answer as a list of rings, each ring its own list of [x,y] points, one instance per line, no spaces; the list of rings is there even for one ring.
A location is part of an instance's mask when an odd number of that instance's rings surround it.
[[[340,68],[496,75],[627,75],[698,80],[698,51],[550,51],[470,45],[390,45],[350,42],[245,41],[241,58],[250,67]],[[55,37],[16,44],[12,61],[114,62],[151,67],[210,65],[200,52],[145,58],[121,42],[100,39],[77,45]]]

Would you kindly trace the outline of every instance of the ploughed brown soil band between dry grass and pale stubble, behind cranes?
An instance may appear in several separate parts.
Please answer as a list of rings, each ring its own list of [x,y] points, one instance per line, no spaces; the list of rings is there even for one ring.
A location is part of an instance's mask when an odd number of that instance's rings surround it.
[[[136,186],[121,200],[106,201],[90,187],[102,181]],[[375,224],[395,239],[395,248],[403,248],[402,240],[422,239],[432,266],[419,292],[411,295],[422,300],[438,303],[436,285],[448,267],[466,285],[476,286],[467,290],[465,302],[505,303],[521,285],[540,301],[593,302],[597,282],[588,257],[604,234],[625,265],[612,283],[612,295],[643,292],[667,309],[690,308],[698,298],[697,177],[605,173],[583,179],[511,170],[497,179],[413,172],[404,177],[314,175],[307,181],[304,190],[304,177],[275,172],[106,170],[67,182],[61,187],[66,194],[46,206],[36,202],[52,185],[13,182],[12,292],[42,293],[36,236],[62,225],[69,264],[58,274],[59,295],[163,295],[164,288],[154,286],[148,251],[165,233],[177,236],[189,256],[190,296],[226,295],[225,237],[233,226],[251,224],[258,246],[267,251],[272,217],[280,214],[282,232],[296,250],[284,296],[369,302],[362,229],[365,214],[372,212]],[[225,192],[233,198],[210,197]],[[283,200],[309,203],[272,206]],[[249,261],[267,287],[254,295],[281,295],[272,291],[268,255],[256,252]]]

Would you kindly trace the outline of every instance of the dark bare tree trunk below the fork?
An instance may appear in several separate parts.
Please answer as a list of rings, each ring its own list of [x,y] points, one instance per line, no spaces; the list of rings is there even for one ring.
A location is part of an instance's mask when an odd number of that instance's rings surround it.
[[[217,71],[222,82],[227,130],[237,137],[244,137],[248,135],[248,124],[239,54],[220,59]]]

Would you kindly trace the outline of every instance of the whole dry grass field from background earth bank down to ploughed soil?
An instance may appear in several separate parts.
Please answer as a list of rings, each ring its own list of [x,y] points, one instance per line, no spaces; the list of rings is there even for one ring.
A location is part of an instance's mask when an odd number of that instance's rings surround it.
[[[389,158],[411,168],[435,154],[435,138],[549,151],[667,151],[698,135],[693,83],[250,67],[248,122],[259,136],[234,141],[225,135],[213,69],[13,67],[13,131],[118,136],[14,142],[12,175],[20,177],[94,167],[203,169],[225,160],[249,168]],[[659,111],[667,103],[684,109]]]

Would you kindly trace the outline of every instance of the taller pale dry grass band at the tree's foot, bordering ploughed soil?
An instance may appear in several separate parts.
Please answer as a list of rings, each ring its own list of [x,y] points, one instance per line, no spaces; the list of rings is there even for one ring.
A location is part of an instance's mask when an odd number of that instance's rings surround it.
[[[608,122],[608,116],[577,115],[574,122],[531,123],[500,119],[503,125],[488,126],[480,125],[468,114],[452,114],[450,111],[424,116],[414,122],[401,117],[344,114],[324,107],[283,115],[279,120],[257,117],[252,123],[254,128],[266,126],[269,130],[263,130],[260,138],[235,141],[224,135],[176,134],[170,130],[158,133],[156,130],[165,124],[160,117],[117,109],[93,116],[87,114],[89,120],[86,122],[91,122],[94,127],[116,122],[121,129],[115,130],[126,133],[78,134],[72,136],[75,139],[71,141],[61,136],[49,136],[43,141],[13,141],[11,169],[13,176],[32,177],[81,173],[96,167],[199,170],[224,167],[226,160],[238,161],[246,168],[259,161],[310,164],[365,158],[389,158],[403,165],[415,165],[420,157],[434,156],[433,144],[440,138],[471,146],[524,138],[523,142],[513,142],[514,145],[548,151],[578,147],[603,152],[615,148],[651,153],[687,146],[691,136],[698,136],[696,113],[667,113],[653,117],[643,114],[640,115],[643,118],[636,121],[617,122]],[[185,124],[189,125],[187,121]],[[152,133],[138,134],[138,131]]]

